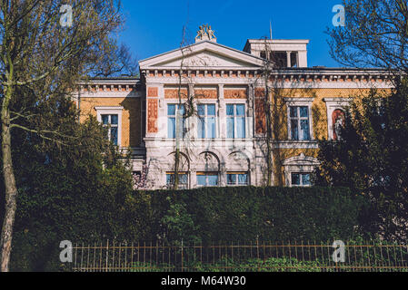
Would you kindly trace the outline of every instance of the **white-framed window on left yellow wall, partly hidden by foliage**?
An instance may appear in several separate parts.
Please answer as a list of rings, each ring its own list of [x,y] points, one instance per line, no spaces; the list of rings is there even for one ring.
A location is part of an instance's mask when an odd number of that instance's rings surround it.
[[[97,119],[107,128],[107,138],[114,145],[121,145],[123,107],[95,107]]]

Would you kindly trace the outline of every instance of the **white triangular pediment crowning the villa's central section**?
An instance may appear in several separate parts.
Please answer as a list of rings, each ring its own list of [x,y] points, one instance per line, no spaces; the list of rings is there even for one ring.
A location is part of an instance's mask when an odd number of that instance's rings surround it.
[[[195,43],[183,49],[163,53],[139,62],[143,69],[256,68],[263,65],[262,59],[233,48],[212,42]]]

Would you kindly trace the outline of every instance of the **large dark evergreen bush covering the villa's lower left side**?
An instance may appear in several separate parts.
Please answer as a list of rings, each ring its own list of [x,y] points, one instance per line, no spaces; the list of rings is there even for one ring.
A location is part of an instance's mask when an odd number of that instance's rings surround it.
[[[134,195],[128,158],[105,138],[106,129],[93,117],[78,123],[65,98],[41,111],[48,126],[55,122],[72,138],[59,144],[27,131],[13,136],[19,192],[11,269],[61,269],[62,240],[143,239],[143,196]]]

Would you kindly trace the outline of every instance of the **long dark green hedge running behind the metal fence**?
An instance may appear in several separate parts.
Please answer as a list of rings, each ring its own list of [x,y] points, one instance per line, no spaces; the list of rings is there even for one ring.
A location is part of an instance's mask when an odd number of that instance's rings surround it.
[[[112,171],[113,172],[113,171]],[[346,188],[204,188],[134,191],[123,172],[104,186],[19,198],[13,271],[61,271],[59,242],[294,243],[353,239],[368,206]],[[109,180],[109,183],[105,183]],[[63,190],[64,191],[64,190]],[[70,190],[68,190],[70,191]],[[48,197],[47,197],[48,195]],[[241,244],[242,245],[242,244]]]

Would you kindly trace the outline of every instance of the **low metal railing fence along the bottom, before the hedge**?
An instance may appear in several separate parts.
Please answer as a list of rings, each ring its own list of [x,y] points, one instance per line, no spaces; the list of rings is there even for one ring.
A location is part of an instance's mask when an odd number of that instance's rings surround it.
[[[406,245],[372,243],[343,247],[334,262],[333,244],[161,242],[73,247],[72,271],[79,272],[408,272]]]

